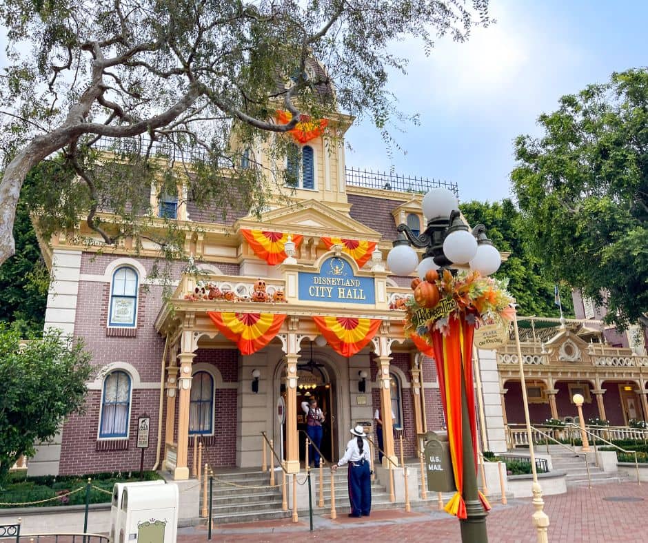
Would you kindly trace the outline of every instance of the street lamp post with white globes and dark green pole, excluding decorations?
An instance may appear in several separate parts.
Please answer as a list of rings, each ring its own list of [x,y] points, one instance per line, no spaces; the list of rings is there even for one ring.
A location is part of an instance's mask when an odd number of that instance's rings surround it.
[[[423,280],[430,269],[452,269],[453,264],[466,265],[483,276],[493,274],[500,267],[498,250],[486,237],[483,225],[476,226],[472,232],[460,218],[458,201],[448,189],[432,189],[423,196],[423,214],[429,220],[425,231],[416,236],[405,224],[398,225],[398,238],[394,248],[387,255],[387,265],[392,273],[407,276],[418,271]],[[411,245],[425,249],[423,260],[418,263],[418,255]],[[417,266],[418,264],[418,266]],[[463,441],[463,500],[466,504],[467,518],[460,520],[461,540],[482,543],[488,541],[486,533],[486,511],[480,502],[475,466],[475,456],[470,431],[470,413],[466,396],[464,374],[461,387],[461,416]]]

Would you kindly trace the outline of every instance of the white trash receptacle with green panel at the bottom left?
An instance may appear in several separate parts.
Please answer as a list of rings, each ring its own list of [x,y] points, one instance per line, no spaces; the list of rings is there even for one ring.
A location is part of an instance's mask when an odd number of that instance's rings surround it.
[[[179,493],[176,484],[125,486],[118,543],[175,543]]]

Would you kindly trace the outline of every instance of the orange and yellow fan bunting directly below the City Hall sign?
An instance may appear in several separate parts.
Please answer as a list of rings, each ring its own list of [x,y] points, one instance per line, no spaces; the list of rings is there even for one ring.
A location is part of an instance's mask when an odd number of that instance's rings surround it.
[[[313,317],[315,324],[336,353],[349,358],[376,335],[381,320],[376,318]]]

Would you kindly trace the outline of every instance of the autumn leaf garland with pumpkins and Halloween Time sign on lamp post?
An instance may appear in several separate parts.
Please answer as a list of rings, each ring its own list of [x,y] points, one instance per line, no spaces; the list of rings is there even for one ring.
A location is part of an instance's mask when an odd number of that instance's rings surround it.
[[[496,324],[512,320],[515,299],[507,291],[507,279],[481,276],[478,272],[460,272],[453,276],[444,269],[441,276],[432,269],[425,280],[412,280],[414,296],[405,301],[405,334],[421,336],[432,343],[432,331],[449,331],[448,320],[465,314],[472,324]]]

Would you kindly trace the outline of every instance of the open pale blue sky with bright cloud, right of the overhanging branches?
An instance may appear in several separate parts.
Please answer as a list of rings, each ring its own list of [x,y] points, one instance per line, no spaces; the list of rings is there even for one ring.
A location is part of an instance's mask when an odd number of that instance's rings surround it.
[[[397,45],[410,64],[389,88],[421,125],[394,132],[407,154],[391,159],[372,125],[352,127],[347,165],[454,181],[463,201],[505,198],[513,141],[540,134],[540,113],[612,72],[648,65],[647,1],[491,0],[490,12],[495,25],[466,43],[438,41],[430,57],[419,43]]]

